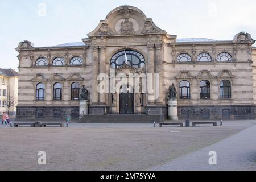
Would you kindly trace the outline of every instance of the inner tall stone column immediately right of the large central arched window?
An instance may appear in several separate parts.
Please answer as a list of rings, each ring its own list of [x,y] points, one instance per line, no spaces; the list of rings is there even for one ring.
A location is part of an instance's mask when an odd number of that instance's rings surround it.
[[[152,74],[152,86],[154,87],[154,73],[155,73],[155,65],[154,65],[154,45],[149,44],[148,46],[148,73]],[[148,96],[148,94],[147,94]],[[148,99],[148,105],[154,105],[155,100]]]

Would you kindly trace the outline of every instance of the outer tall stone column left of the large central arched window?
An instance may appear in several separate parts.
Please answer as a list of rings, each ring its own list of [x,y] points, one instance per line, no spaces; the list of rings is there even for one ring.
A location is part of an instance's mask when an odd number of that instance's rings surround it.
[[[92,105],[98,104],[98,46],[93,47],[93,67],[92,67]]]

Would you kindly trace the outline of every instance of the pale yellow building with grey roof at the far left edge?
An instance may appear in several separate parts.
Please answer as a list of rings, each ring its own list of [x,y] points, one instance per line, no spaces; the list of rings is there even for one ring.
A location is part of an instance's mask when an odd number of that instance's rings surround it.
[[[0,69],[0,115],[16,115],[18,104],[18,73],[13,69]]]

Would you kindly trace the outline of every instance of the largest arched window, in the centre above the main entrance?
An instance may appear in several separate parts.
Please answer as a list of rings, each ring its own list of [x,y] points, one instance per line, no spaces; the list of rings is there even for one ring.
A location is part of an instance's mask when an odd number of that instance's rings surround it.
[[[110,61],[111,67],[114,69],[122,67],[125,63],[133,68],[143,68],[145,59],[139,52],[126,50],[116,53]]]

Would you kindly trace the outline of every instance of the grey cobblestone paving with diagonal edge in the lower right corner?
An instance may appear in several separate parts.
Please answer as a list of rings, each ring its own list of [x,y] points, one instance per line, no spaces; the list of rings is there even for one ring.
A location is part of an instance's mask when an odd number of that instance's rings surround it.
[[[217,164],[209,164],[209,152],[217,152]],[[150,170],[207,170],[237,171],[256,170],[256,126],[226,138],[221,142],[205,147],[199,151],[180,156],[171,162],[155,166]]]

